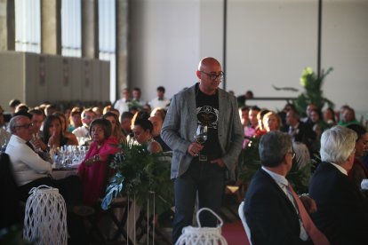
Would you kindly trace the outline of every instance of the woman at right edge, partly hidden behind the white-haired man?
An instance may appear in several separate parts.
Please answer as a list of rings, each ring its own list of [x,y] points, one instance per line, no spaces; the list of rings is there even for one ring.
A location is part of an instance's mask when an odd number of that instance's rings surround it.
[[[354,130],[357,135],[356,154],[354,158],[353,168],[348,171],[348,177],[354,179],[356,186],[360,189],[360,184],[364,178],[368,178],[368,170],[361,161],[364,153],[368,150],[368,133],[360,124],[350,124],[348,129]]]

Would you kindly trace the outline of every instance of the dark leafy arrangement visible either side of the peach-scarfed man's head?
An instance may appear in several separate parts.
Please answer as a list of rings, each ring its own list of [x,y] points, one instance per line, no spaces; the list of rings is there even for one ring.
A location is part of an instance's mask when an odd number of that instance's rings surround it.
[[[248,145],[243,149],[243,161],[239,164],[238,179],[244,184],[249,183],[257,170],[260,170],[260,154],[258,146],[260,137],[250,138]],[[311,172],[312,162],[308,162],[299,168],[297,158],[292,160],[292,170],[289,171],[286,178],[290,181],[295,192],[299,194],[308,193],[308,184]]]

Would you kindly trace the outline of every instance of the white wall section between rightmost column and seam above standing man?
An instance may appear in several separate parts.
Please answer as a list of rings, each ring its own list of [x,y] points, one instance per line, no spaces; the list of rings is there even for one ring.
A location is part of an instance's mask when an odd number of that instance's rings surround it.
[[[199,58],[199,1],[131,1],[130,81],[143,98],[164,85],[171,97],[195,80]]]

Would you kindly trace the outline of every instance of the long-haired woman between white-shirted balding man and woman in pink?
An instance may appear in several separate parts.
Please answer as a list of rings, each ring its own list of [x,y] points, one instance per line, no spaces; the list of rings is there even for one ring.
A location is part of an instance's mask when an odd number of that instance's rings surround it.
[[[64,136],[61,128],[61,120],[57,115],[48,115],[44,120],[44,144],[50,146],[50,148],[57,148],[65,145],[75,145],[76,142],[71,138]]]

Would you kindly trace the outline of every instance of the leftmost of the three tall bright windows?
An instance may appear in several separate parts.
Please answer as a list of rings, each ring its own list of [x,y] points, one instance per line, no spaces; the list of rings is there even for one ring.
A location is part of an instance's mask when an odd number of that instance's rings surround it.
[[[15,50],[41,52],[40,0],[15,0]]]

